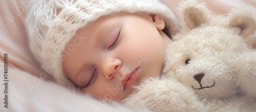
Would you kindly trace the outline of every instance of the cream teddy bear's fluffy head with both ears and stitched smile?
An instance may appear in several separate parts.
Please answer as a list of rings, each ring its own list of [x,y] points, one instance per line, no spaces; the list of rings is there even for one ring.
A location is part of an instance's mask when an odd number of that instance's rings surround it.
[[[256,20],[250,10],[233,10],[222,17],[195,1],[183,4],[183,29],[166,51],[163,72],[206,98],[238,93],[237,55],[255,43]]]

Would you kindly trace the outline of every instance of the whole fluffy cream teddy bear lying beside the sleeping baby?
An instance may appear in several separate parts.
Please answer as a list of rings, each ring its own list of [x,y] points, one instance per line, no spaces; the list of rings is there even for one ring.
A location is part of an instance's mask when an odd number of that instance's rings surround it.
[[[152,111],[254,111],[256,10],[215,15],[203,3],[180,5],[182,29],[165,54],[160,78],[150,78],[123,100]]]

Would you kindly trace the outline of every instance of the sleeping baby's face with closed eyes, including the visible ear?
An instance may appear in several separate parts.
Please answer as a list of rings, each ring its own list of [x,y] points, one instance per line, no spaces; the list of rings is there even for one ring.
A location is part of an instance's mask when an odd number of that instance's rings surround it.
[[[122,100],[149,77],[159,76],[165,46],[159,15],[119,13],[77,31],[63,52],[63,69],[81,91]]]

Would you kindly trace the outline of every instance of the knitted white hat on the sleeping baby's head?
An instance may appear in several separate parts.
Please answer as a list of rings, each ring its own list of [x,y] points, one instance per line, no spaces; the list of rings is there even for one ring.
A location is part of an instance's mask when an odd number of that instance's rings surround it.
[[[26,19],[30,50],[58,83],[73,85],[62,68],[66,44],[89,21],[120,11],[160,14],[165,21],[165,33],[171,36],[177,31],[175,15],[158,0],[38,0]]]

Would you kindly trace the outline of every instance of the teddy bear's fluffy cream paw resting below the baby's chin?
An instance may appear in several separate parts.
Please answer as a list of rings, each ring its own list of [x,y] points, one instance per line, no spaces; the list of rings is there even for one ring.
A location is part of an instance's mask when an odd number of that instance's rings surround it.
[[[152,111],[208,111],[194,92],[174,79],[153,79],[138,87],[139,91],[124,100],[134,108],[145,105]]]

